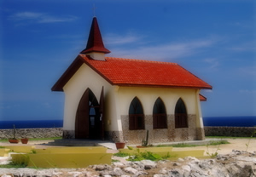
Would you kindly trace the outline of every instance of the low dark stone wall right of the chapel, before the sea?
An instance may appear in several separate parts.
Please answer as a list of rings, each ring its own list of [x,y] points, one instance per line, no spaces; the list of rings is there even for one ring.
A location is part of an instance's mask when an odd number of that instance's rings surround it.
[[[255,131],[256,127],[205,127],[206,136],[250,137]]]

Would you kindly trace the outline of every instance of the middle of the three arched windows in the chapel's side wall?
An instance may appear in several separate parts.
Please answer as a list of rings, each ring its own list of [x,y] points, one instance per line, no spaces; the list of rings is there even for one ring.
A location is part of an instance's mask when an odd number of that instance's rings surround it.
[[[153,128],[167,128],[166,106],[160,98],[154,102]]]

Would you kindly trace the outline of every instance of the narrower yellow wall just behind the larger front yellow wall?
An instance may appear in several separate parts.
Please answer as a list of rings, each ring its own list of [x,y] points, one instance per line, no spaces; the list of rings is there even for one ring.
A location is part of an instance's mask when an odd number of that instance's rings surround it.
[[[103,146],[86,146],[86,147],[48,147],[47,149],[35,149],[35,153],[44,154],[66,154],[66,153],[106,153],[107,148]]]

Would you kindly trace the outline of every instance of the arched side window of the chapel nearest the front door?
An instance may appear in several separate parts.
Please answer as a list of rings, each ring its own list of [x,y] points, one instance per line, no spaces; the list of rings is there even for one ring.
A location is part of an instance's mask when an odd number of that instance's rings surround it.
[[[144,129],[144,113],[140,100],[135,97],[129,108],[129,129]]]

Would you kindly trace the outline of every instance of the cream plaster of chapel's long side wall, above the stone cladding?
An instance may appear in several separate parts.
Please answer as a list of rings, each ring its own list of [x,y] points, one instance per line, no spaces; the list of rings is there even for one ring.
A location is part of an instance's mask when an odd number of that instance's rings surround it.
[[[174,114],[177,100],[182,98],[188,114],[197,113],[197,96],[195,89],[186,88],[119,88],[120,114],[128,115],[131,100],[135,96],[141,101],[145,115],[152,115],[154,102],[160,97],[166,106],[167,114]]]

